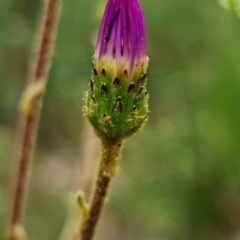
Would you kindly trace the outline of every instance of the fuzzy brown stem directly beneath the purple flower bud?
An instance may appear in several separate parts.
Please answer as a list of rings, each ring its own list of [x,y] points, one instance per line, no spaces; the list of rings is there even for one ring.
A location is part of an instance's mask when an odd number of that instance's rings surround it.
[[[90,203],[88,216],[81,226],[81,240],[91,240],[104,207],[109,185],[113,179],[120,157],[121,139],[101,139],[102,156]]]

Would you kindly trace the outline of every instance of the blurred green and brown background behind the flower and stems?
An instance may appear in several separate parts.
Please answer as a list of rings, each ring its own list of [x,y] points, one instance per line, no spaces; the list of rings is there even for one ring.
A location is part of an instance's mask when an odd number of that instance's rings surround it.
[[[59,239],[69,194],[81,185],[91,140],[82,99],[100,1],[104,6],[104,0],[63,1],[24,220],[29,240]],[[214,0],[140,3],[151,112],[125,145],[97,239],[239,240],[240,19]],[[19,100],[41,6],[40,0],[0,1],[1,240],[16,168]],[[97,159],[89,161],[95,172]]]

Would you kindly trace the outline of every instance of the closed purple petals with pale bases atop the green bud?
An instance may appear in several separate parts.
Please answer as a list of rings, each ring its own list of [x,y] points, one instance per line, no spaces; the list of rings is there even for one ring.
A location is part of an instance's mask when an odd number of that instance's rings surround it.
[[[146,31],[137,0],[109,0],[100,26],[95,58],[105,67],[129,71],[147,67]]]

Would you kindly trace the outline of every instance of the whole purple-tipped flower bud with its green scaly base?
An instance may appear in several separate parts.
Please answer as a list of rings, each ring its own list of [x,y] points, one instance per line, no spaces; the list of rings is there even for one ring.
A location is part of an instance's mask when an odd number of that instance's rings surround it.
[[[146,31],[137,0],[109,0],[93,56],[85,113],[100,136],[122,137],[147,119]]]

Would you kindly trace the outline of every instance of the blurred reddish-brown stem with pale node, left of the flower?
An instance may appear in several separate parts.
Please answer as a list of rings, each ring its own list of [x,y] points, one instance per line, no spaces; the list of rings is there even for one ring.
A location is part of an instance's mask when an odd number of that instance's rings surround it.
[[[31,155],[35,146],[39,116],[47,81],[48,70],[52,57],[53,41],[55,40],[61,0],[45,0],[40,35],[37,41],[37,54],[32,63],[21,103],[19,136],[18,169],[12,202],[12,211],[8,229],[8,240],[18,240],[15,229],[21,225],[24,200],[28,188],[28,177],[31,166]]]

